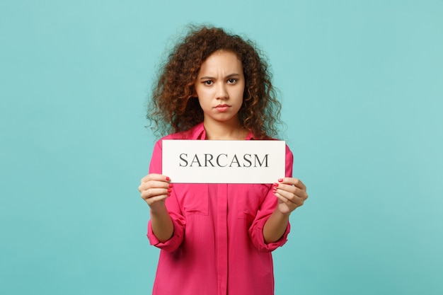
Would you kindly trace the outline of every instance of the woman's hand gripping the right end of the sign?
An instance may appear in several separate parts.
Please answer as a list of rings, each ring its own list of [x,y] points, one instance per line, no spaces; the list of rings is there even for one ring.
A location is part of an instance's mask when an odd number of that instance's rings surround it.
[[[278,198],[277,210],[282,214],[291,214],[303,205],[308,198],[306,185],[297,178],[281,178],[274,183],[272,192]]]

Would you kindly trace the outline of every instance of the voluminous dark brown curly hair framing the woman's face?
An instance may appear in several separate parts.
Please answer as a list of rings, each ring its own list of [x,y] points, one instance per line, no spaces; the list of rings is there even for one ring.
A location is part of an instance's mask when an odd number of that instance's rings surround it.
[[[251,131],[255,139],[277,135],[281,105],[267,59],[251,40],[208,26],[190,26],[159,71],[147,115],[155,134],[182,132],[203,121],[194,85],[202,63],[218,50],[234,52],[243,65],[245,89],[238,111],[241,127]]]

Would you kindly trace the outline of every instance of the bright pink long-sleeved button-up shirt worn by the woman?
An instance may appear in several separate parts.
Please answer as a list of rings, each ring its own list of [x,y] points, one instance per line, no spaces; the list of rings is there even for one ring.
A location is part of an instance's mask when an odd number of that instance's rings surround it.
[[[199,124],[163,139],[205,139]],[[253,139],[249,134],[246,139]],[[286,148],[286,176],[292,177]],[[161,173],[161,140],[154,146],[149,173]],[[174,183],[166,207],[171,239],[161,243],[148,224],[148,238],[161,249],[154,295],[271,295],[271,251],[287,241],[266,244],[263,226],[277,206],[272,185]]]

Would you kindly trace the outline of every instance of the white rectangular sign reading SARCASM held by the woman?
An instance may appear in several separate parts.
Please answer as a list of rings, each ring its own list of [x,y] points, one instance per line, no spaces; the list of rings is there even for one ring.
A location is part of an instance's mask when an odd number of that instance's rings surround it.
[[[275,183],[285,153],[278,140],[163,140],[162,174],[173,183]]]

